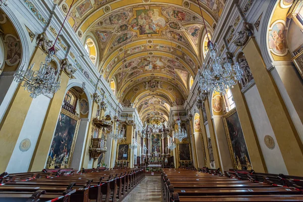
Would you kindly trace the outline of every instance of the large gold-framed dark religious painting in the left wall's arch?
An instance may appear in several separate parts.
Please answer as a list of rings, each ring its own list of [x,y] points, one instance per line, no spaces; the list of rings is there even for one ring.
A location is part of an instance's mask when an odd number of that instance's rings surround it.
[[[68,168],[78,134],[80,118],[62,109],[51,149],[49,149],[46,168]]]

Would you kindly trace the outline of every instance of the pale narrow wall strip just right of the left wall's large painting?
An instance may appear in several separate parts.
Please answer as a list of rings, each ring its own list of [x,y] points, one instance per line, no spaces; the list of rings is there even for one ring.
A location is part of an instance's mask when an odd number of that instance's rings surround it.
[[[85,150],[85,140],[88,130],[88,118],[82,118],[79,125],[77,140],[73,152],[72,157],[72,163],[71,167],[74,168],[74,170],[80,170],[81,169],[81,162],[83,160],[84,156],[84,150]]]

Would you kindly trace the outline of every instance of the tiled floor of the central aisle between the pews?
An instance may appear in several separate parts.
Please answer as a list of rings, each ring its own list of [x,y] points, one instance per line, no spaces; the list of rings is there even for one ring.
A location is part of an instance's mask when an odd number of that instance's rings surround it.
[[[145,176],[122,202],[162,201],[161,195],[161,176]]]

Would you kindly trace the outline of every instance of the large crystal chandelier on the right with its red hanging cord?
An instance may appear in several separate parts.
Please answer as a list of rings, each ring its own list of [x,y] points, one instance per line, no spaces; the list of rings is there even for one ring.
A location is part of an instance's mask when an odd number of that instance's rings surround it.
[[[213,92],[217,91],[224,95],[228,88],[232,88],[233,85],[240,81],[243,75],[242,69],[239,67],[236,59],[233,58],[233,63],[225,57],[225,64],[221,64],[220,57],[217,55],[218,46],[213,43],[207,31],[203,13],[200,7],[199,0],[197,0],[201,16],[203,19],[204,27],[206,29],[206,35],[208,37],[208,49],[210,54],[209,64],[203,64],[201,72],[199,72],[199,86],[201,91]]]

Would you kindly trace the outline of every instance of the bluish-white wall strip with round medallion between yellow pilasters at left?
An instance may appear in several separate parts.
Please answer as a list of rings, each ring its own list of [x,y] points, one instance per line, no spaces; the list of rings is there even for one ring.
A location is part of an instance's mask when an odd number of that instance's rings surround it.
[[[32,100],[6,170],[8,173],[28,171],[50,100],[51,99],[49,97],[44,95],[39,95],[37,98]],[[25,138],[30,139],[31,146],[27,151],[21,151],[19,149],[19,145]]]

